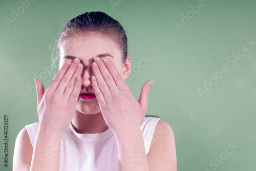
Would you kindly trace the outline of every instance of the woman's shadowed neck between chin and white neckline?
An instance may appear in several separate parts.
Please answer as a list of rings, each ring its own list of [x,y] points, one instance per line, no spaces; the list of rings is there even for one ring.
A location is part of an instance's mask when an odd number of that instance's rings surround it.
[[[79,134],[102,133],[109,129],[101,112],[95,114],[83,114],[76,110],[72,119],[72,125]]]

